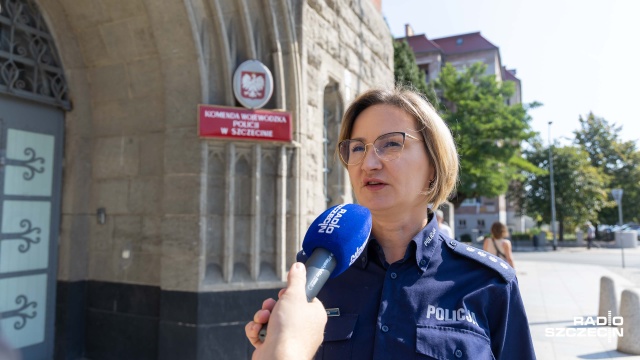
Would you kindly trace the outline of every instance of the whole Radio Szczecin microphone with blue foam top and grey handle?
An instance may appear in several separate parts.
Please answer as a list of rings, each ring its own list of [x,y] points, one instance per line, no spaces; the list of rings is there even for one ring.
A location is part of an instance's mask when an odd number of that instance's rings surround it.
[[[311,254],[304,264],[307,301],[318,295],[327,280],[342,274],[358,259],[370,233],[371,213],[361,205],[336,205],[316,218],[302,242],[302,254]],[[267,324],[258,336],[264,342]]]

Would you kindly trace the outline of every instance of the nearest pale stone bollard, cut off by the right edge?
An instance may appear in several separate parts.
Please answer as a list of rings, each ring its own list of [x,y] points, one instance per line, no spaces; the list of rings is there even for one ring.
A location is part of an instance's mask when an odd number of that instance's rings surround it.
[[[622,336],[618,337],[617,350],[640,355],[640,290],[627,289],[620,297]]]

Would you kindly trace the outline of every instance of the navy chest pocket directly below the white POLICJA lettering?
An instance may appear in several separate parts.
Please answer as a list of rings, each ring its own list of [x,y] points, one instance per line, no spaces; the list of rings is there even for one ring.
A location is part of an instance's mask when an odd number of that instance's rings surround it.
[[[416,352],[434,359],[495,360],[491,341],[470,330],[418,325]]]

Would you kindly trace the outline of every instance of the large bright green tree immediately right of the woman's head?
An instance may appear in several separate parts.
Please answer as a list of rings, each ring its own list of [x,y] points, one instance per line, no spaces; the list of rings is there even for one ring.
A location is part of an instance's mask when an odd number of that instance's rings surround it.
[[[507,105],[513,83],[498,83],[485,71],[483,63],[463,72],[447,64],[433,82],[441,99],[438,110],[460,154],[460,182],[451,199],[456,208],[467,198],[504,194],[522,170],[540,173],[521,157],[522,142],[536,135],[527,111],[540,104]]]

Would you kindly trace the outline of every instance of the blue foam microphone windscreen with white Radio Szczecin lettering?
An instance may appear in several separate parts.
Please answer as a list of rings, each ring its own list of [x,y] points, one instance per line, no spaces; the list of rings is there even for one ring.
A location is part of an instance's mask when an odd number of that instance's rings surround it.
[[[311,256],[315,248],[329,250],[336,258],[330,278],[342,274],[362,253],[371,233],[371,213],[364,206],[340,204],[323,212],[311,224],[302,250]]]

